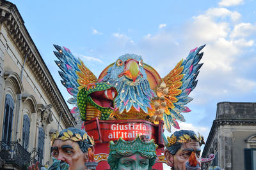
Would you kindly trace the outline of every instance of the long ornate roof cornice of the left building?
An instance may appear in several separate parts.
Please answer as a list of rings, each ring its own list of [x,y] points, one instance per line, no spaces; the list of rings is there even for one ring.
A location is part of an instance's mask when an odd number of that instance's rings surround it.
[[[26,64],[35,74],[42,89],[45,89],[45,94],[51,99],[51,104],[58,111],[59,116],[61,112],[65,113],[61,120],[67,127],[74,127],[76,125],[75,118],[71,115],[67,103],[31,39],[15,4],[4,0],[0,1],[0,24],[6,27],[22,57],[28,55]]]

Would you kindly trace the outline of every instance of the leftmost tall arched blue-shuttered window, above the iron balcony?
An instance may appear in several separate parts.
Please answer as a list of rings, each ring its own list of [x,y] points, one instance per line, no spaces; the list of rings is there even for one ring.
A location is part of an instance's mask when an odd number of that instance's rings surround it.
[[[12,120],[13,120],[14,102],[10,94],[6,94],[4,104],[4,122],[2,141],[9,146],[12,139]]]

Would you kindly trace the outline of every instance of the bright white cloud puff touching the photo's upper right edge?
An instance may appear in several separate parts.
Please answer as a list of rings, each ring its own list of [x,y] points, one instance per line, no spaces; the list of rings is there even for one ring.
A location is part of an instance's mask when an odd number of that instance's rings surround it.
[[[235,25],[234,30],[230,34],[230,38],[248,37],[256,33],[256,25],[251,23],[240,23]]]

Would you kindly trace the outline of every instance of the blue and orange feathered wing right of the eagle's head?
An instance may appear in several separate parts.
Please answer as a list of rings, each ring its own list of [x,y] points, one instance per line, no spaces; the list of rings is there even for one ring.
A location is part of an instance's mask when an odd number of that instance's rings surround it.
[[[168,93],[164,95],[166,101],[163,120],[166,129],[170,132],[171,125],[179,129],[177,120],[185,121],[182,112],[189,112],[189,108],[185,106],[193,98],[189,97],[189,93],[195,89],[199,69],[203,64],[198,64],[202,59],[203,52],[199,53],[205,45],[195,48],[189,52],[185,60],[181,60],[175,68],[163,78]]]

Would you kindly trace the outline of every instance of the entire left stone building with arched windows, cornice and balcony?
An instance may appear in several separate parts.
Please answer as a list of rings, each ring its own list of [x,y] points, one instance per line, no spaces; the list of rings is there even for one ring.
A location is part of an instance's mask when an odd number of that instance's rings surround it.
[[[0,1],[0,169],[48,164],[52,132],[76,125],[19,10]]]

